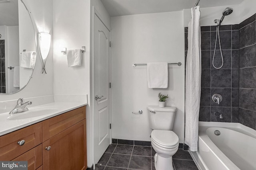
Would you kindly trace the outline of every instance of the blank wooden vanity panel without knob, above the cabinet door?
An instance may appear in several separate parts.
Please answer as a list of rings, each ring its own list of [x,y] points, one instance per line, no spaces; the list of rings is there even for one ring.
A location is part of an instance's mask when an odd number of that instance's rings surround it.
[[[58,133],[86,118],[86,107],[79,107],[61,115],[43,121],[43,141],[50,139]]]

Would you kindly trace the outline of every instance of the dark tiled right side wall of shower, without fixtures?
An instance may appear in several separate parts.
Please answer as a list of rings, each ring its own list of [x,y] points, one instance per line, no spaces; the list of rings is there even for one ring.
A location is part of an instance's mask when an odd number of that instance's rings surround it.
[[[239,123],[256,130],[256,15],[239,24]]]

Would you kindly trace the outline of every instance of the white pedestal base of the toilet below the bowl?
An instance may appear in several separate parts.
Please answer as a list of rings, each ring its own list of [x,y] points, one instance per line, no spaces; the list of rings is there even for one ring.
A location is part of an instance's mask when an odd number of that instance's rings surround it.
[[[154,160],[156,170],[174,170],[172,166],[172,156],[164,157],[156,153]]]

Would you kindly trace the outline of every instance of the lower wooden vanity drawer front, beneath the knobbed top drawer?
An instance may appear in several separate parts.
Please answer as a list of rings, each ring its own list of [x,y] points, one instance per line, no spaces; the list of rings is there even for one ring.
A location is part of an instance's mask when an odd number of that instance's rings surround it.
[[[42,165],[42,144],[28,150],[13,161],[28,161],[28,170],[36,170]]]

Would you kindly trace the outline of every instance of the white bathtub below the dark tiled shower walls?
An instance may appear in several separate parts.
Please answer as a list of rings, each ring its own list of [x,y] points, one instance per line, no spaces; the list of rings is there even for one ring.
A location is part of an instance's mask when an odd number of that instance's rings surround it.
[[[240,123],[199,122],[198,151],[190,153],[201,170],[256,170],[256,131]]]

